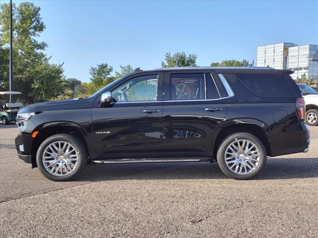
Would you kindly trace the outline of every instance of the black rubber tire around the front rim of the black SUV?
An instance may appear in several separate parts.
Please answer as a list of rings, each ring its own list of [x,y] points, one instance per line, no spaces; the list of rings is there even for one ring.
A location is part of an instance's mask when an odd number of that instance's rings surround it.
[[[69,175],[65,176],[55,176],[50,174],[46,169],[42,162],[42,156],[44,153],[44,150],[47,146],[49,146],[51,143],[55,141],[65,141],[70,143],[79,153],[79,160],[78,165],[76,169]],[[62,162],[61,162],[62,163]],[[71,179],[75,179],[79,174],[83,171],[87,164],[87,149],[85,145],[81,142],[81,140],[70,134],[56,134],[48,137],[45,139],[42,144],[39,146],[37,153],[36,153],[36,164],[40,170],[40,172],[48,179],[54,180],[54,181],[69,181]]]

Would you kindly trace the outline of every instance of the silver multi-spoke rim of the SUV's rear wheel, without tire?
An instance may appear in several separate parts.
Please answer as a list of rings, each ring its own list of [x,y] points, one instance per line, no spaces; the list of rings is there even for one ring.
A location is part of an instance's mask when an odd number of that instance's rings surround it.
[[[225,151],[225,163],[238,174],[246,175],[254,171],[260,163],[258,147],[251,141],[236,139]]]

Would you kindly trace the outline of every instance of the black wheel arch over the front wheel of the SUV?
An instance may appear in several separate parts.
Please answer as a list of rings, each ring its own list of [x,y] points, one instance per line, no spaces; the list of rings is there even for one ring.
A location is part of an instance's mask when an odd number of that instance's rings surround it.
[[[45,123],[33,130],[39,131],[32,142],[32,148],[31,148],[31,161],[32,161],[32,168],[37,167],[36,164],[36,152],[40,146],[40,144],[48,137],[54,135],[54,134],[60,134],[60,133],[68,133],[75,135],[78,137],[83,144],[86,147],[87,153],[89,155],[89,150],[86,142],[87,133],[79,124],[76,124],[74,122],[67,123],[63,121],[63,124],[57,124],[56,122],[54,124],[52,123]],[[32,133],[33,133],[32,132]]]

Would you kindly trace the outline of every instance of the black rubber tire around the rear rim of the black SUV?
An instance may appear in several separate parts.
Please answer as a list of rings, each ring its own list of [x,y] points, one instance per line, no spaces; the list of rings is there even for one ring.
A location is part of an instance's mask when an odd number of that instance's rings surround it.
[[[230,168],[227,166],[226,164],[226,160],[225,160],[225,152],[226,149],[228,148],[228,146],[232,143],[235,142],[236,140],[239,139],[245,139],[248,140],[252,143],[254,143],[258,150],[259,150],[259,163],[256,166],[256,168],[247,173],[247,174],[236,174],[235,172],[233,172],[232,170],[230,170]],[[217,161],[218,161],[218,165],[220,167],[220,169],[222,170],[222,172],[228,176],[229,178],[232,179],[251,179],[254,176],[256,176],[257,174],[259,174],[262,169],[265,167],[266,165],[266,160],[267,160],[267,154],[266,154],[266,149],[265,146],[263,145],[263,143],[254,135],[250,134],[250,133],[246,133],[246,132],[236,132],[233,134],[228,135],[220,144],[219,149],[218,149],[218,153],[217,153]]]

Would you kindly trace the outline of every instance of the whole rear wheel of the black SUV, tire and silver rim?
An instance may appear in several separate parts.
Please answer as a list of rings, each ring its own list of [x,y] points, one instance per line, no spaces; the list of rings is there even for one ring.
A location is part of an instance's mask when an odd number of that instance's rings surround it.
[[[246,132],[228,135],[217,153],[220,169],[233,179],[251,179],[264,168],[266,159],[263,143]]]

